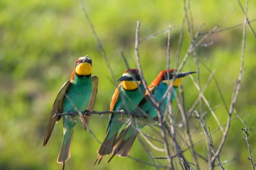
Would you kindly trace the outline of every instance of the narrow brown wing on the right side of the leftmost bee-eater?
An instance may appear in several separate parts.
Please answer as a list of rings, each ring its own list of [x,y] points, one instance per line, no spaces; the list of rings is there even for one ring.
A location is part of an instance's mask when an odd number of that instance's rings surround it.
[[[98,77],[97,76],[93,76],[92,77],[92,93],[91,93],[89,104],[88,104],[86,110],[93,111],[93,108],[94,108],[94,105],[95,105],[95,101],[96,101],[97,91],[98,91]],[[87,115],[84,114],[83,116],[84,116],[85,122],[88,125],[89,121],[90,121],[90,116],[91,115],[87,116]],[[83,124],[84,124],[84,122],[83,122]],[[84,124],[84,130],[87,130],[85,124]]]

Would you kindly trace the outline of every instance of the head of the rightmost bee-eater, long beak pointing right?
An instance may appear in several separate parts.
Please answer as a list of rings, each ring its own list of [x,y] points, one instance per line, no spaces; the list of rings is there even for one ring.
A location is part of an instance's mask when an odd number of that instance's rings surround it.
[[[196,73],[196,72],[195,71],[189,71],[189,72],[177,73],[177,70],[169,69],[169,74],[168,74],[167,70],[163,70],[163,71],[160,71],[157,78],[154,79],[152,84],[154,84],[155,86],[159,85],[160,82],[168,84],[168,81],[169,81],[169,84],[171,84],[175,75],[176,75],[175,81],[173,82],[173,86],[174,87],[179,87],[180,82],[183,79],[183,77],[185,77],[189,74],[193,74],[193,73]]]

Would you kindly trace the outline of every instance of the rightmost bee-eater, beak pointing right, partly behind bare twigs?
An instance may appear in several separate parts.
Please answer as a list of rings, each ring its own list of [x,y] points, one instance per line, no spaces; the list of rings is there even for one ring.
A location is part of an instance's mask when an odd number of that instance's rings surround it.
[[[157,102],[160,102],[162,100],[163,95],[166,93],[166,90],[168,89],[168,83],[169,85],[171,84],[175,74],[176,74],[176,79],[173,82],[173,90],[171,95],[172,101],[175,99],[177,88],[180,85],[182,78],[189,74],[195,73],[194,71],[184,72],[184,73],[176,73],[176,72],[177,70],[169,69],[169,79],[168,79],[167,70],[160,71],[160,74],[158,74],[157,78],[154,79],[154,81],[151,82],[151,85],[148,86],[148,90],[151,91],[154,99]],[[138,118],[137,122],[135,122],[136,120],[135,117],[134,119],[131,119],[131,122],[129,123],[129,125],[124,130],[122,130],[122,132],[116,138],[113,146],[112,156],[109,159],[109,161],[111,161],[111,159],[115,155],[118,155],[120,157],[129,156],[132,144],[134,143],[134,140],[139,134],[137,129],[142,129],[145,125],[151,123],[154,117],[157,117],[155,106],[151,105],[151,102],[147,101],[147,98],[149,99],[148,95],[149,95],[148,92],[146,92],[138,108],[136,109],[136,112],[139,112],[141,114],[143,113],[148,114],[148,118],[147,119]],[[161,108],[160,108],[161,111],[163,112],[165,111],[167,102],[168,102],[168,97],[163,99],[163,104],[161,105]]]

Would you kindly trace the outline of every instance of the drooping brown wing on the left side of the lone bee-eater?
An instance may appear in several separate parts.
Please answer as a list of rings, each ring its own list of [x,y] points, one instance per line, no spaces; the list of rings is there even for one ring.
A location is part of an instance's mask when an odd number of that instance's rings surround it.
[[[67,82],[65,82],[62,85],[62,87],[61,87],[60,91],[58,92],[57,97],[56,97],[56,99],[53,103],[52,111],[50,113],[47,129],[46,129],[45,136],[44,136],[44,146],[47,144],[47,142],[48,142],[48,140],[49,140],[49,138],[52,134],[55,123],[58,123],[61,120],[60,116],[55,117],[55,118],[52,118],[52,116],[55,115],[55,112],[56,113],[62,113],[63,112],[63,100],[64,100],[64,97],[65,97],[65,94],[67,94],[67,91],[70,87],[70,83],[71,82],[68,80]]]

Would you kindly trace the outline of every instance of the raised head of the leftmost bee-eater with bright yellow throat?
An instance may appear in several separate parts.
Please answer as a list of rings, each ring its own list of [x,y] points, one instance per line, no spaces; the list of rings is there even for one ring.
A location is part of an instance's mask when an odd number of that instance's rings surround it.
[[[93,63],[93,60],[90,59],[88,56],[79,57],[76,60],[76,66],[73,70],[70,80],[74,79],[75,74],[78,77],[90,77],[92,74],[92,68],[93,68],[92,63]]]

